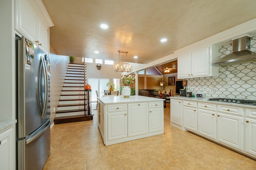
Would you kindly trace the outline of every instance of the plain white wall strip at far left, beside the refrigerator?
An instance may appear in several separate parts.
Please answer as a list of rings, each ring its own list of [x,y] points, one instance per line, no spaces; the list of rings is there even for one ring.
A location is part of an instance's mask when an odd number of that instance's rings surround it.
[[[14,120],[16,111],[13,3],[13,0],[1,0],[0,5],[0,121]]]

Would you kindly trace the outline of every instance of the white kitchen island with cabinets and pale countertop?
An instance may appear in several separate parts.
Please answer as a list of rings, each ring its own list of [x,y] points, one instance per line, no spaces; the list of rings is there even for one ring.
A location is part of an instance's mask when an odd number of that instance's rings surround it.
[[[98,97],[98,128],[111,145],[164,133],[163,99],[130,96]]]

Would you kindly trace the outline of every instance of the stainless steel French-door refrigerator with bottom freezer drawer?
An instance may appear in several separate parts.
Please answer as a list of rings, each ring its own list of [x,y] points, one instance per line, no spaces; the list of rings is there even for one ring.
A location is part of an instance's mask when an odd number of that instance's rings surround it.
[[[48,61],[48,56],[34,43],[16,37],[18,170],[42,170],[50,155]]]

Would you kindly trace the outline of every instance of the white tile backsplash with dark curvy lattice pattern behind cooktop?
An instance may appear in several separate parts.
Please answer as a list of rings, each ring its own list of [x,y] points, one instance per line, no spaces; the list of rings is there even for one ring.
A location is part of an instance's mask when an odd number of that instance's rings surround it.
[[[256,36],[252,37],[250,51],[256,52]],[[219,58],[232,52],[232,43],[219,47]],[[218,77],[186,79],[188,90],[205,93],[208,98],[256,100],[256,62],[220,66]]]

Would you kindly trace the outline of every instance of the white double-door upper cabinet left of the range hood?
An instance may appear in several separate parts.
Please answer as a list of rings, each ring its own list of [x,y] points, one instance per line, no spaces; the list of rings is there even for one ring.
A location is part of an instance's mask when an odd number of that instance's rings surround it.
[[[206,47],[178,57],[178,79],[216,76],[218,67],[210,66],[216,57],[216,47]]]

